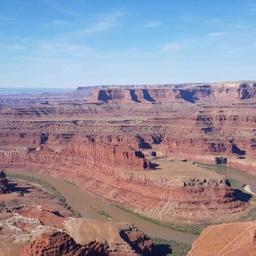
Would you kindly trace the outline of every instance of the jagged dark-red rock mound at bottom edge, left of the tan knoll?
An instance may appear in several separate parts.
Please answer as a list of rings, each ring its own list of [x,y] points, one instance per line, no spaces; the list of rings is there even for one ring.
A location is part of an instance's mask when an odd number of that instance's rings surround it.
[[[77,244],[65,232],[48,232],[38,236],[32,244],[22,249],[20,256],[104,256],[100,242]]]

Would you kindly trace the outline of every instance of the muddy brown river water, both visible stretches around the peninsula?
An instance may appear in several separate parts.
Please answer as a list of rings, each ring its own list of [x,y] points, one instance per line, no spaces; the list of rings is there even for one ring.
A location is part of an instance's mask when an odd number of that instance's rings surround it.
[[[240,180],[241,182],[244,182],[246,185],[250,185],[252,188],[252,191],[256,192],[256,179],[249,176],[246,173],[239,172],[235,169],[222,167],[222,166],[209,167],[203,164],[200,164],[200,166],[213,169],[215,172],[218,172],[219,174],[222,174],[222,175],[226,175],[229,178]],[[194,240],[198,238],[197,235],[170,230],[168,228],[164,228],[162,226],[153,224],[152,222],[149,222],[147,220],[138,218],[128,212],[124,212],[123,210],[120,210],[119,208],[116,208],[115,206],[112,206],[111,204],[104,202],[100,198],[96,198],[92,196],[91,194],[86,192],[86,190],[80,187],[76,187],[72,184],[69,184],[68,182],[65,182],[60,178],[52,177],[45,174],[33,173],[33,172],[23,172],[23,171],[14,172],[14,171],[8,171],[8,170],[6,172],[34,176],[41,180],[47,181],[52,186],[54,186],[56,190],[58,190],[58,192],[62,194],[62,196],[64,196],[67,203],[73,209],[80,212],[80,214],[82,214],[82,216],[85,218],[92,218],[95,220],[100,220],[102,222],[107,222],[107,221],[132,222],[138,227],[139,230],[141,230],[142,232],[146,233],[149,236],[158,236],[166,240],[176,240],[178,242],[183,242],[187,244],[193,243]],[[100,208],[101,210],[109,214],[112,217],[112,220],[108,220],[107,218],[98,214],[98,212],[90,208],[91,205],[96,206],[97,208]]]

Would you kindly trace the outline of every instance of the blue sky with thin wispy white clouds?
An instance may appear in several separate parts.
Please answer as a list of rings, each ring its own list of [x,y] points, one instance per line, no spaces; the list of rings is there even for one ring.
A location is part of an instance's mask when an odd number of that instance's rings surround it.
[[[230,80],[256,80],[256,1],[0,1],[0,87]]]

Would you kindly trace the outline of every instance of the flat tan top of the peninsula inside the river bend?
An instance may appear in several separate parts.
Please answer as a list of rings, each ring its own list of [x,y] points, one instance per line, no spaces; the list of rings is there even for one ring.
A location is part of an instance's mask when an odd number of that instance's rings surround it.
[[[158,165],[155,170],[135,171],[136,173],[146,174],[155,177],[168,178],[172,181],[186,181],[189,179],[218,179],[221,175],[205,168],[198,167],[192,162],[182,162],[182,158],[149,158],[152,164]]]

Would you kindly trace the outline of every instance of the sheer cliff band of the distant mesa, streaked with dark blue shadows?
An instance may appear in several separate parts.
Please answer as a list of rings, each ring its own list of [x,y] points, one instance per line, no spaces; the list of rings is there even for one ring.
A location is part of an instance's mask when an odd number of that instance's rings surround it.
[[[100,102],[218,102],[231,100],[246,100],[256,98],[256,88],[248,84],[238,84],[238,88],[219,87],[216,85],[195,85],[185,88],[166,88],[148,86],[148,88],[95,88],[88,103]]]

